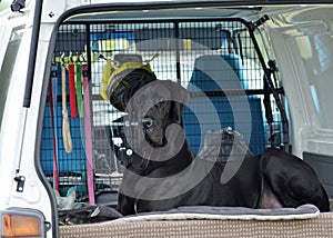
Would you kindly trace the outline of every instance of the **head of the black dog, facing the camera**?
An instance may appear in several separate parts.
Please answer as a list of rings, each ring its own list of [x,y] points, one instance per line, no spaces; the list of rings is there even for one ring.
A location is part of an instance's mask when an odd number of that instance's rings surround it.
[[[123,99],[130,121],[137,121],[143,135],[141,140],[157,148],[168,143],[165,130],[170,125],[181,125],[182,108],[189,97],[179,83],[157,80],[127,93]],[[140,137],[138,140],[140,143]]]

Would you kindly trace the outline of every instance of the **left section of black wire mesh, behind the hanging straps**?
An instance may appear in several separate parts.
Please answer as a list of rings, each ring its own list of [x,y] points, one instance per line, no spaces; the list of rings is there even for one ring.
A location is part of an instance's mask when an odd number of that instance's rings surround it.
[[[58,32],[58,40],[51,66],[51,76],[44,110],[41,166],[50,178],[54,189],[65,195],[69,187],[77,186],[78,197],[87,195],[85,182],[85,143],[84,116],[82,112],[82,89],[73,88],[82,82],[82,76],[77,73],[82,63],[87,63],[81,56],[84,52],[87,38],[84,32],[78,31],[84,26],[62,26]],[[74,40],[73,40],[74,39]],[[85,62],[83,62],[85,61]],[[79,78],[80,77],[80,78]],[[64,90],[64,91],[63,91]],[[81,98],[81,101],[79,100]],[[78,103],[73,103],[72,101]],[[63,123],[67,110],[71,132],[71,148],[67,148]]]

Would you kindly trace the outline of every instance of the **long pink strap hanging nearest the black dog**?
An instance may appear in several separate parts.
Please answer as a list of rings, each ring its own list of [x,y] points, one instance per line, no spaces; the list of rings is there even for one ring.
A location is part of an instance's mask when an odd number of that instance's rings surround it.
[[[87,182],[89,204],[94,205],[93,189],[93,168],[92,168],[92,135],[91,135],[91,115],[90,115],[90,89],[88,79],[88,66],[82,65],[83,72],[83,93],[84,93],[84,133],[85,133],[85,153],[87,153]]]

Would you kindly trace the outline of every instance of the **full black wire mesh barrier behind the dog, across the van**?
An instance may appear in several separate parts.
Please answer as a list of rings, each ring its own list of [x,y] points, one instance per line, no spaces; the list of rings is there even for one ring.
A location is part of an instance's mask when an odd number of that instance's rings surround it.
[[[195,153],[200,153],[203,146],[214,146],[208,145],[206,138],[213,130],[225,128],[238,131],[252,153],[261,153],[273,142],[281,145],[284,131],[280,111],[265,88],[259,53],[249,26],[240,19],[62,24],[46,103],[41,145],[43,171],[52,181],[54,172],[58,173],[62,195],[73,186],[81,189],[77,199],[84,200],[91,189],[94,195],[118,190],[128,157],[123,132],[125,112],[101,97],[107,60],[111,60],[114,68],[122,59],[141,60],[150,65],[159,80],[172,80],[188,89],[191,98],[183,109],[182,120],[186,141]],[[61,67],[65,69],[65,93],[61,91]],[[72,77],[74,88],[71,88]],[[84,77],[88,88],[84,88]],[[64,151],[62,146],[63,96],[68,99],[71,152]],[[71,100],[73,97],[75,101]],[[265,98],[269,103],[264,103]],[[271,113],[268,105],[273,108],[273,123],[268,123]],[[88,168],[90,159],[93,171]],[[93,178],[87,175],[89,172],[93,172]],[[91,179],[92,188],[88,182]],[[54,182],[53,186],[56,188]]]

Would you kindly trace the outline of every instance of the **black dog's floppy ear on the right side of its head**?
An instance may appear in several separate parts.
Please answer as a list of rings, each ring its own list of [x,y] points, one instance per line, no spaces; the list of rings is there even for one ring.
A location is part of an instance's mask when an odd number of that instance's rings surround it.
[[[172,113],[170,113],[169,117],[171,121],[181,123],[182,110],[190,99],[190,93],[182,86],[171,80],[163,80],[163,86],[169,89],[171,95]]]

